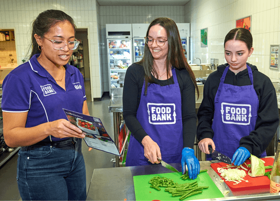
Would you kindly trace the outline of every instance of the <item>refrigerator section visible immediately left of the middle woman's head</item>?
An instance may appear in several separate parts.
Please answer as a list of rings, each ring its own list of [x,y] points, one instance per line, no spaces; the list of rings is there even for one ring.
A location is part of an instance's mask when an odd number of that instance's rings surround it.
[[[133,38],[133,62],[138,62],[143,58],[145,41],[149,24],[132,24]]]

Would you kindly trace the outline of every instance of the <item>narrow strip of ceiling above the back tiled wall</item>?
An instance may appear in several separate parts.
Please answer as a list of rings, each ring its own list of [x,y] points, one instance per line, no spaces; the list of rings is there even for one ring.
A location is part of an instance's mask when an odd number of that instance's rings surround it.
[[[186,5],[190,0],[97,0],[99,5]]]

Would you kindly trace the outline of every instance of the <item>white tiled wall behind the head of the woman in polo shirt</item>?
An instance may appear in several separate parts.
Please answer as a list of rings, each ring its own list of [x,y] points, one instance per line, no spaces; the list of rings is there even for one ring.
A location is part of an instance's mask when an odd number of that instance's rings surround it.
[[[47,9],[70,15],[77,28],[88,28],[92,98],[101,97],[96,0],[0,0],[0,28],[15,29],[18,64],[31,42],[31,22]],[[99,10],[99,9],[98,9]]]

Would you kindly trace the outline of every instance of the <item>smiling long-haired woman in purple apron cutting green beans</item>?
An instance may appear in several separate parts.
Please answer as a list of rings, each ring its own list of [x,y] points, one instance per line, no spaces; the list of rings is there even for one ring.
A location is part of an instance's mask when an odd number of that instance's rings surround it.
[[[200,171],[196,134],[195,77],[184,56],[177,25],[155,19],[145,37],[144,56],[126,72],[123,117],[132,135],[126,166],[182,164],[194,179]]]

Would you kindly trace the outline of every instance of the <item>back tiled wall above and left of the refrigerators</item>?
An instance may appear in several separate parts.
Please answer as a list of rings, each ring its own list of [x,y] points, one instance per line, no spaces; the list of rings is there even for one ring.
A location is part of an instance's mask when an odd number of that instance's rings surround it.
[[[102,75],[104,91],[109,91],[106,24],[151,23],[158,17],[168,17],[184,23],[184,6],[100,6]]]

